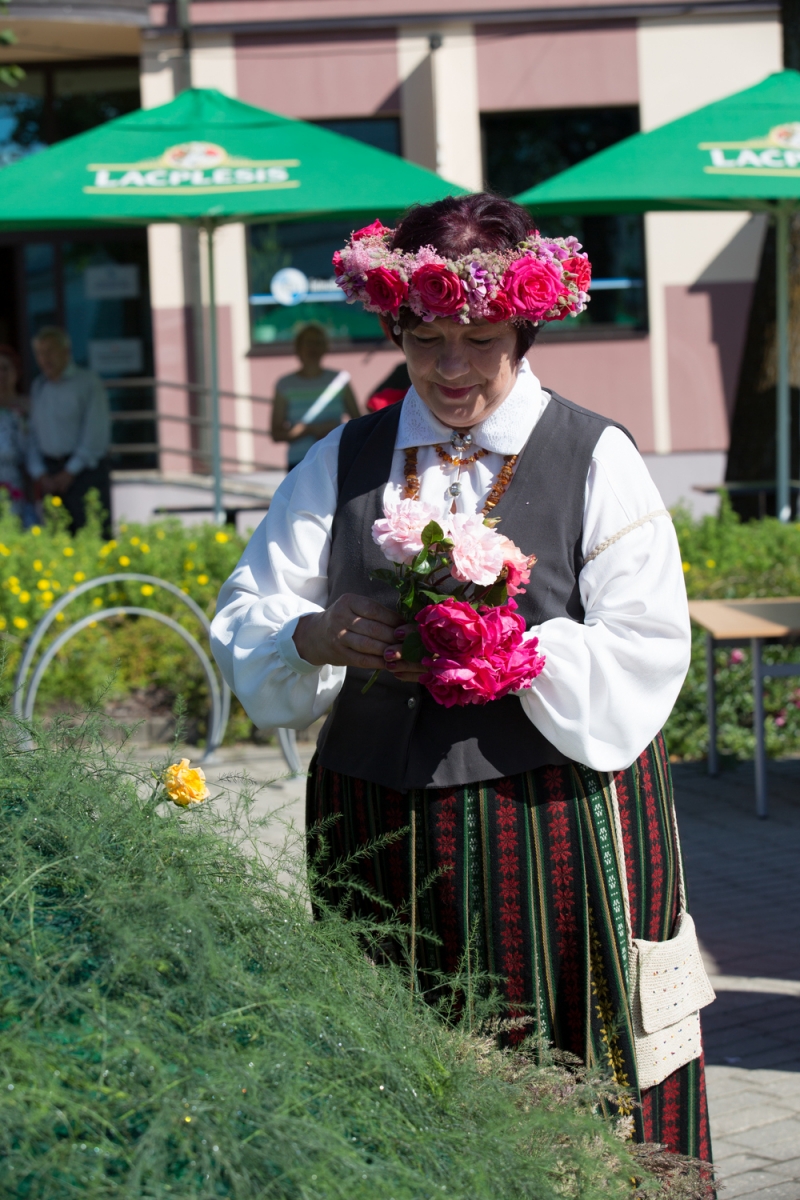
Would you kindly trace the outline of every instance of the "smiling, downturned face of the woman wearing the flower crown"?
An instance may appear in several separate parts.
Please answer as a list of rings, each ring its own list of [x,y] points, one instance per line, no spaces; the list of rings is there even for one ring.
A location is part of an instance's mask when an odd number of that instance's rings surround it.
[[[509,322],[420,322],[403,331],[403,350],[417,392],[452,428],[477,425],[500,407],[517,380],[517,331]]]

